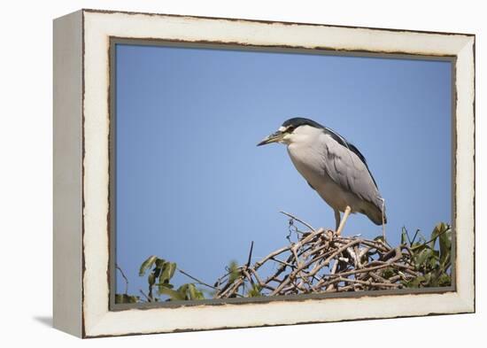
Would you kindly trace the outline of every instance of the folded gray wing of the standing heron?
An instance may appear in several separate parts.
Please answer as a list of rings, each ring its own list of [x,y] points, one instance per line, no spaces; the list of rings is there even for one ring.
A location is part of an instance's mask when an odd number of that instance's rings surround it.
[[[326,147],[323,169],[331,180],[361,199],[380,204],[381,196],[363,155],[352,144],[337,141],[335,136],[326,133],[322,136],[325,136],[323,143]]]

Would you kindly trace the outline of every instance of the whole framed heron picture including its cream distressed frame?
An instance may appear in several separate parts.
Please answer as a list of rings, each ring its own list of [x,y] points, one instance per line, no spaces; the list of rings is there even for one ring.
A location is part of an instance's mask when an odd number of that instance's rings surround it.
[[[474,81],[475,35],[55,19],[54,326],[474,312]]]

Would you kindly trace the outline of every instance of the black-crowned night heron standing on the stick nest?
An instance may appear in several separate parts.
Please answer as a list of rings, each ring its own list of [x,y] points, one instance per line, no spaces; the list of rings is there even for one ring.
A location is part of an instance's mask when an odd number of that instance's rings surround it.
[[[267,143],[287,145],[298,172],[335,211],[337,235],[350,213],[363,213],[376,225],[387,222],[383,197],[365,157],[342,135],[313,120],[294,118],[258,146]]]

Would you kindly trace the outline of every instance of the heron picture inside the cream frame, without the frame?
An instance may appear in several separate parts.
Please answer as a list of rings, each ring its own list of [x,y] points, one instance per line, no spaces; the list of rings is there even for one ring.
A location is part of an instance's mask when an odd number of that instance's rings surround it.
[[[116,304],[451,289],[452,60],[113,47]]]

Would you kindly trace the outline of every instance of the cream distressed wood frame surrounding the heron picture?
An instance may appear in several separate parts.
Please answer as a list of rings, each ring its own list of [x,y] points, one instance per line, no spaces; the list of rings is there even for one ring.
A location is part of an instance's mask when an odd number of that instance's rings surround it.
[[[113,38],[454,59],[452,290],[114,311],[109,265]],[[81,10],[54,21],[53,57],[56,328],[81,337],[120,336],[475,311],[475,35]]]

